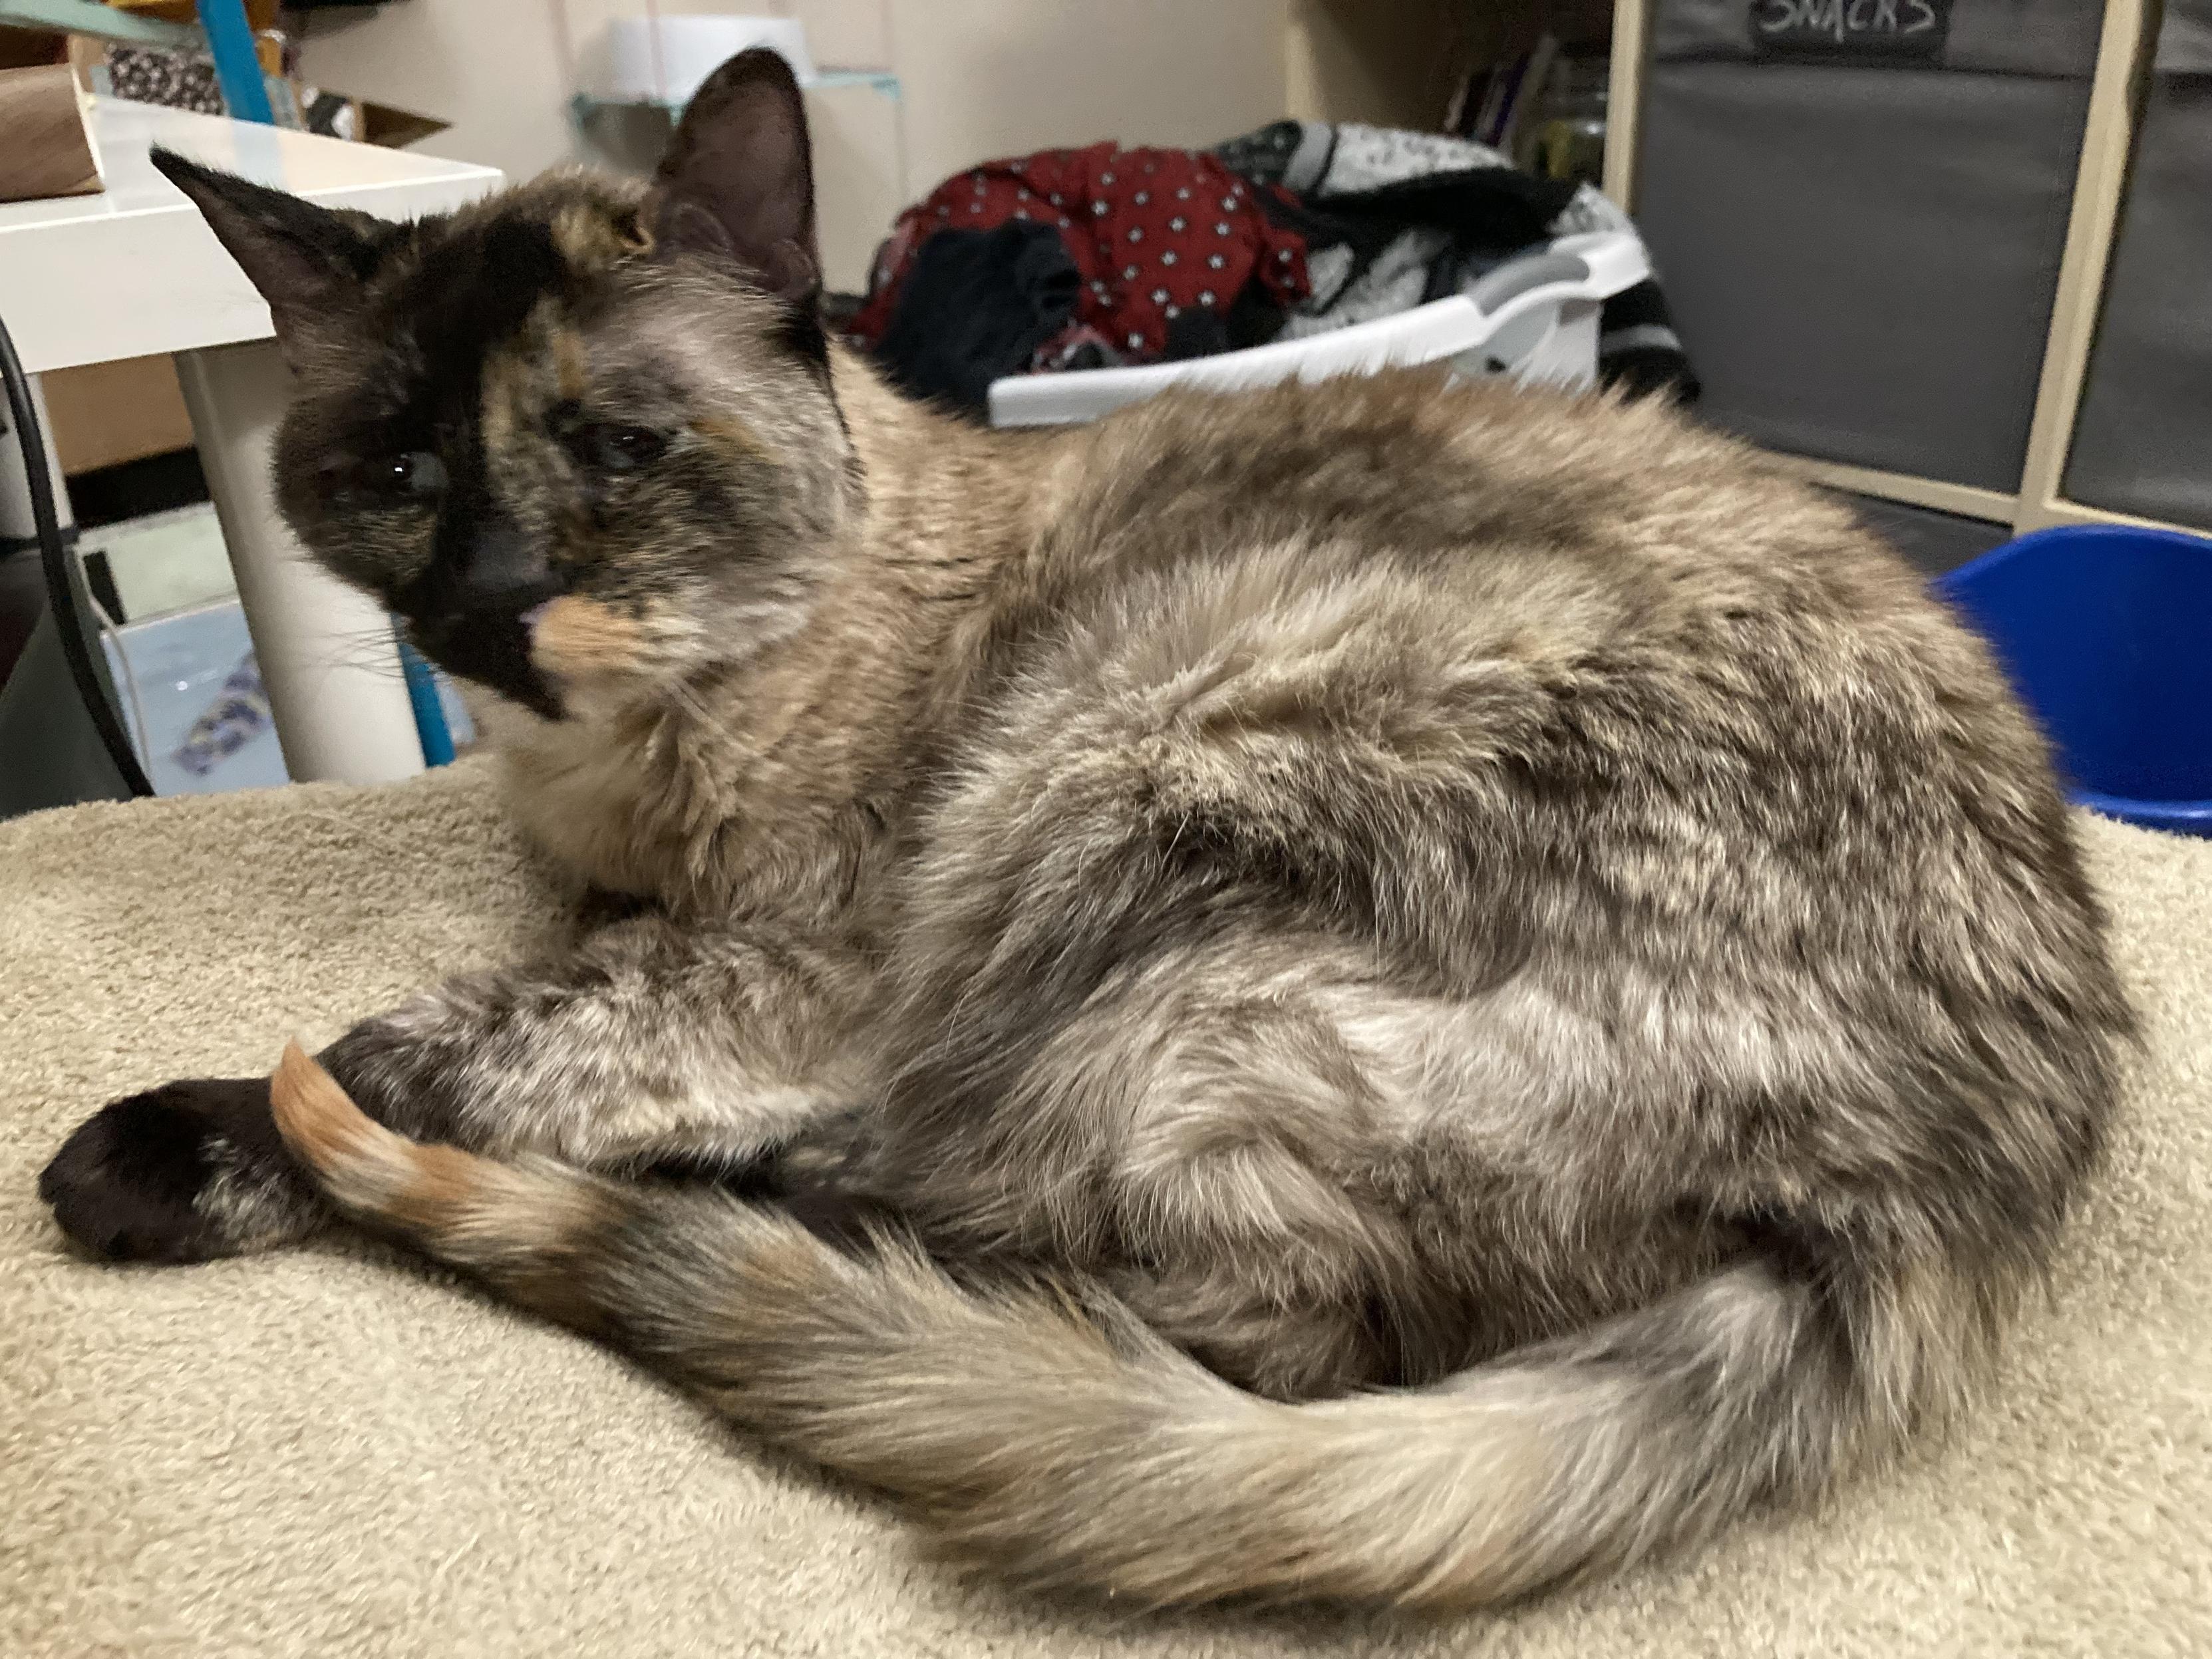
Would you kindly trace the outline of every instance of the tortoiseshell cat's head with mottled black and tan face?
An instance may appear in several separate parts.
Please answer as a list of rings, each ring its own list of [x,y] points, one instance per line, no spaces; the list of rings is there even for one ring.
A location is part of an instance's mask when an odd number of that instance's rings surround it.
[[[383,226],[166,168],[299,369],[276,438],[292,529],[427,657],[546,717],[666,695],[790,635],[852,511],[812,195],[803,215],[768,201],[763,228],[759,190],[732,204],[728,177],[684,177],[686,159],[790,173],[790,128],[763,142],[761,122],[796,88],[781,97],[781,60],[741,62],[653,190],[564,173]],[[732,100],[743,131],[717,150],[699,128]]]

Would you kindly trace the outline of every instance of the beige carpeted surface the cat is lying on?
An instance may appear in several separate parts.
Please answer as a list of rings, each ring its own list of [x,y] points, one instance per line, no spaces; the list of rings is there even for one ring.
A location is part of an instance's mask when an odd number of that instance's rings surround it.
[[[962,1588],[865,1495],[365,1243],[69,1256],[33,1179],[91,1106],[263,1071],[557,900],[469,763],[0,825],[0,1655],[2212,1652],[2212,843],[2086,836],[2150,1060],[1989,1409],[1823,1515],[1422,1628]]]

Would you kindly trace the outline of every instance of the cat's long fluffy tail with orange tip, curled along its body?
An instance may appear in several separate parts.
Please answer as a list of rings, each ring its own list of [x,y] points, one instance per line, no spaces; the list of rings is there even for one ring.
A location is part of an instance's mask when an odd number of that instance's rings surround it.
[[[1820,1484],[1966,1369],[1969,1285],[1725,1270],[1425,1391],[1281,1405],[1113,1310],[978,1292],[774,1208],[418,1146],[296,1046],[276,1126],[352,1214],[887,1489],[1037,1586],[1455,1608]]]

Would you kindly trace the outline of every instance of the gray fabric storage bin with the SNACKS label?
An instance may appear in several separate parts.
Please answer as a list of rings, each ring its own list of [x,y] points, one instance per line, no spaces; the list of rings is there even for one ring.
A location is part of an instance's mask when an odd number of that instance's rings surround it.
[[[1703,414],[1774,449],[2015,491],[2097,0],[1657,0],[1637,219]],[[1754,46],[1774,18],[1933,40]],[[1854,38],[1854,46],[1858,46]]]

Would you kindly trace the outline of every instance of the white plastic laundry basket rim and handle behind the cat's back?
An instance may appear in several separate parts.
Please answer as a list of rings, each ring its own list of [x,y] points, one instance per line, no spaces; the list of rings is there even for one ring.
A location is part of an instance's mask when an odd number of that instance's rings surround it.
[[[1243,392],[1283,380],[1449,361],[1455,374],[1511,374],[1522,385],[1597,383],[1597,314],[1650,276],[1644,243],[1617,230],[1562,237],[1506,261],[1467,294],[1371,323],[1133,369],[1011,374],[991,383],[993,427],[1071,427],[1170,385]]]

